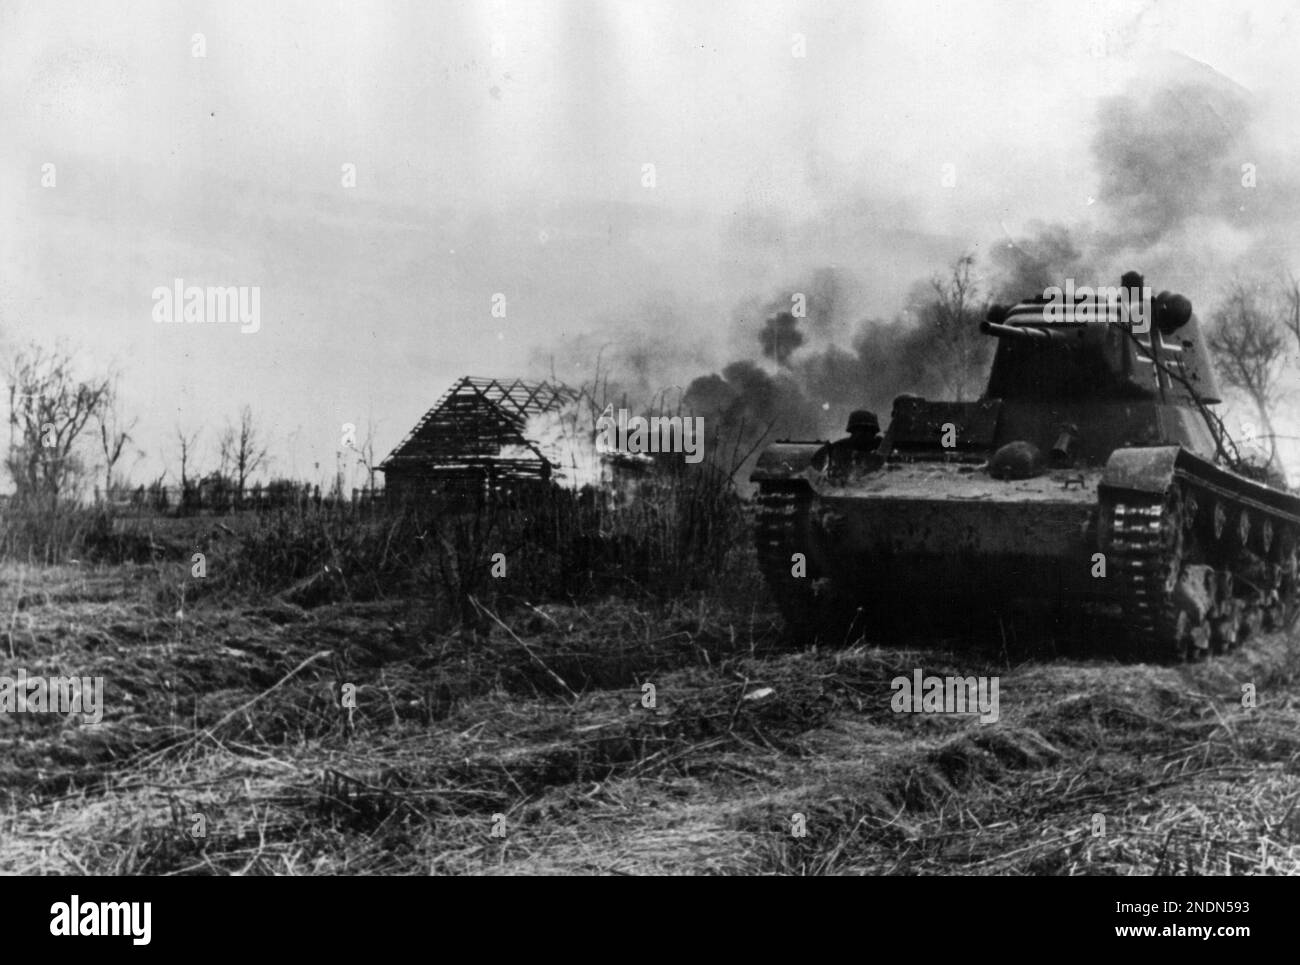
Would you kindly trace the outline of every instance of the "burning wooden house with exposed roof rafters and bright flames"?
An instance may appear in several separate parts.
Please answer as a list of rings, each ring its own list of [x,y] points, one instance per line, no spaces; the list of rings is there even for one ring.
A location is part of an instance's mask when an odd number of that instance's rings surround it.
[[[642,472],[597,453],[594,417],[590,398],[562,384],[464,376],[380,464],[386,497],[608,486]]]

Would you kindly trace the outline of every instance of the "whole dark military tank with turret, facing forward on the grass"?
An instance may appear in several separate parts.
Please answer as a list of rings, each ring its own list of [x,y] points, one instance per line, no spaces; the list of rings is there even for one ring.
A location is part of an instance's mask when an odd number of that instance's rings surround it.
[[[763,451],[758,559],[790,628],[1046,610],[1171,662],[1294,626],[1300,497],[1236,456],[1191,303],[1123,282],[994,306],[975,402],[901,395],[883,434],[858,411]]]

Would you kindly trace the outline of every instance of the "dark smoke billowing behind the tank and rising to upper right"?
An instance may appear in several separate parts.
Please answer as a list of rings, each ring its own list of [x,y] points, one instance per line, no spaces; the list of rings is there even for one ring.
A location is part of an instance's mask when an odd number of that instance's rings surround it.
[[[1266,151],[1270,138],[1248,92],[1199,65],[1179,69],[1165,83],[1136,85],[1098,104],[1084,134],[1096,176],[1091,218],[985,238],[982,298],[1010,303],[1067,278],[1118,285],[1122,272],[1136,269],[1157,287],[1204,290],[1208,303],[1218,294],[1209,287],[1216,274],[1226,276],[1243,251],[1287,248],[1300,212],[1296,165]],[[1223,251],[1223,237],[1240,251]],[[933,268],[946,271],[939,261]],[[854,408],[885,423],[901,393],[950,397],[935,365],[928,278],[916,280],[892,317],[857,313],[859,295],[846,295],[855,280],[840,271],[797,281],[738,306],[733,325],[745,347],[686,382],[684,410],[705,416],[711,432],[835,438]],[[970,368],[980,369],[978,381],[987,355]]]

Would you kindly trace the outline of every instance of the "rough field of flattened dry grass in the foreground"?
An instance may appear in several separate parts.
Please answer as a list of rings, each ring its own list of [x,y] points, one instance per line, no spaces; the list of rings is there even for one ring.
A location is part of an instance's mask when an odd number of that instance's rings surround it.
[[[0,870],[1300,871],[1280,636],[1184,667],[1040,640],[797,649],[746,561],[725,594],[482,605],[472,627],[420,594],[182,602],[179,561],[8,563],[5,666],[103,676],[105,709],[0,717]],[[1001,719],[893,713],[918,667],[998,675]]]

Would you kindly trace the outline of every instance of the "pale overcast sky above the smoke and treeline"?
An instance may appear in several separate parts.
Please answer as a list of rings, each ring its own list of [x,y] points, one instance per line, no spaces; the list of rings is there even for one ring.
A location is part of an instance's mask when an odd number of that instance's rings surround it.
[[[690,378],[828,265],[890,315],[1087,220],[1095,104],[1153,60],[1291,104],[1297,42],[1283,3],[0,0],[0,338],[120,365],[136,481],[244,403],[317,475],[342,423],[384,455],[460,375],[573,375],[563,336]],[[156,324],[176,278],[259,286],[260,330]]]

